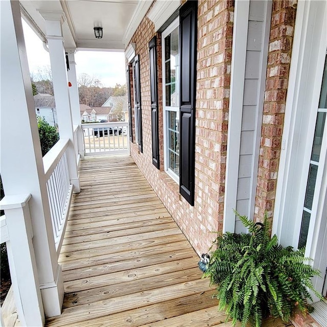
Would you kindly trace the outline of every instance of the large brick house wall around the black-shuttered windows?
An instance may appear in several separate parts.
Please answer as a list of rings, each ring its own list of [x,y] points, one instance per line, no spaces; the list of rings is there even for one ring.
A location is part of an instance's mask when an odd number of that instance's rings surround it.
[[[143,121],[143,153],[132,144],[131,156],[198,253],[208,250],[215,238],[212,231],[222,230],[232,20],[233,1],[199,1],[193,207],[180,197],[179,185],[163,171],[161,68],[158,69],[160,171],[152,165],[148,43],[155,31],[147,16],[131,40],[139,54]],[[158,49],[159,62],[160,57]]]

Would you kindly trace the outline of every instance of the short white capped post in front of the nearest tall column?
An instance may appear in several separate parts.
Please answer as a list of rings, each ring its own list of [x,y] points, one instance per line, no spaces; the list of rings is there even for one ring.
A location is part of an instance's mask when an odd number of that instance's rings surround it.
[[[10,277],[19,320],[23,326],[41,327],[45,319],[32,243],[30,199],[30,194],[5,196],[0,208],[6,214]]]

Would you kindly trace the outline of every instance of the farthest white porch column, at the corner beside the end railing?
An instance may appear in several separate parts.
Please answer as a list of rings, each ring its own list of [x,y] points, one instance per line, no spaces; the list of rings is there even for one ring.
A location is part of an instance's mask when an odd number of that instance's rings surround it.
[[[78,153],[81,159],[84,159],[83,131],[81,128],[81,113],[80,113],[80,98],[78,94],[78,85],[77,85],[77,76],[76,76],[76,62],[75,62],[76,49],[66,49],[66,52],[68,53],[68,61],[69,61],[68,81],[72,83],[72,86],[69,87],[69,96],[71,98],[73,125],[78,125],[78,130],[77,130]]]

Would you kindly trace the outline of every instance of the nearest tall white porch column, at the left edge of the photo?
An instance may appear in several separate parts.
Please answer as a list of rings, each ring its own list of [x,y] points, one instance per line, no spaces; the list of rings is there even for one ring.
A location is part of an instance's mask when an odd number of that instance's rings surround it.
[[[33,246],[44,312],[46,316],[54,316],[61,312],[63,281],[57,262],[19,2],[0,3],[1,177],[6,196],[32,195]]]

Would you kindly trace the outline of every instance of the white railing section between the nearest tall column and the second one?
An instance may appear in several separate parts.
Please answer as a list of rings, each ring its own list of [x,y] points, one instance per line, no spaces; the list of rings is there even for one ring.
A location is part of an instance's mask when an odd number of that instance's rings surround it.
[[[52,227],[57,254],[59,255],[69,207],[71,206],[73,185],[69,180],[66,150],[68,140],[59,139],[55,146],[43,157],[44,175],[50,205]]]

